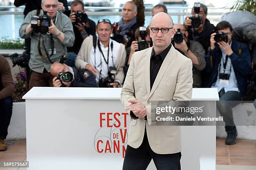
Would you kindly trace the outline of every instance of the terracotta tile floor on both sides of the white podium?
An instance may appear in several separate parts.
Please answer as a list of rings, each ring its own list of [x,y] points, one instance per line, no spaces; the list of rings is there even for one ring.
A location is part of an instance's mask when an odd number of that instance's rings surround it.
[[[0,162],[26,161],[26,140],[8,141],[14,145],[0,152]],[[238,140],[236,145],[225,145],[225,139],[216,139],[216,170],[256,170],[256,141]],[[26,170],[26,168],[0,168]]]

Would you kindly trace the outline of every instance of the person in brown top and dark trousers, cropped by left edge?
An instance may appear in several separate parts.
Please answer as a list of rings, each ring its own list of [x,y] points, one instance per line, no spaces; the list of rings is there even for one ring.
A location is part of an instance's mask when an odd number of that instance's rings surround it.
[[[7,150],[5,138],[13,110],[14,84],[8,61],[0,55],[0,151]]]

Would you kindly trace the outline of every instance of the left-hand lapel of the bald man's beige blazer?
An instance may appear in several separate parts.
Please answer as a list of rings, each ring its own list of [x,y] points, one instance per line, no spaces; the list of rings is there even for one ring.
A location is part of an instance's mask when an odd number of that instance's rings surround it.
[[[153,50],[153,47],[151,47],[151,50],[148,50],[146,53],[146,62],[144,65],[144,72],[145,72],[145,85],[146,85],[146,90],[149,95],[150,93],[150,57],[151,57],[151,52]]]

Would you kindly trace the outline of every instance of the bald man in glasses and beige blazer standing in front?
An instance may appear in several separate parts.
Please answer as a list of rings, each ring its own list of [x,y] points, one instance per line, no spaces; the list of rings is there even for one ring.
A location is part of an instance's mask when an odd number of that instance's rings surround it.
[[[192,61],[172,46],[168,14],[154,15],[150,29],[153,47],[133,53],[121,92],[133,119],[123,170],[146,170],[151,159],[158,170],[180,170],[180,127],[153,126],[151,101],[191,100]]]

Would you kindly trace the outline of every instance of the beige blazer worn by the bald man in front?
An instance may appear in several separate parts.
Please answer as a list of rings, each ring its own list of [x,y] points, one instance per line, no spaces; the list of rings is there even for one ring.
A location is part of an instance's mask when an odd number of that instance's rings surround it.
[[[191,100],[192,61],[179,53],[173,46],[166,55],[150,91],[150,57],[153,48],[133,53],[131,63],[121,91],[124,107],[128,99],[136,98],[147,108],[147,119],[132,120],[128,145],[138,148],[146,131],[151,149],[158,154],[181,151],[181,130],[179,126],[155,126],[151,123],[151,101]]]

